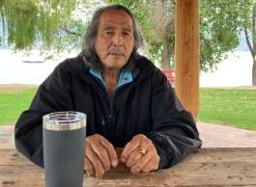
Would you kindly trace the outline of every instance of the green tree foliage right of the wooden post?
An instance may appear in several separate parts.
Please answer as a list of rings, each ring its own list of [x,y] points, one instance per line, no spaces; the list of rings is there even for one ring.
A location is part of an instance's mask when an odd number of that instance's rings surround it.
[[[244,13],[252,13],[251,0],[202,0],[200,4],[201,69],[207,71],[239,45],[245,22]]]

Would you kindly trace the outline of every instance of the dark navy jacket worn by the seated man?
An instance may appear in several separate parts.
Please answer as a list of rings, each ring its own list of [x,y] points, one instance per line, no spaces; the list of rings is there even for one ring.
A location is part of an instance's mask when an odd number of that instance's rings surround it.
[[[158,169],[169,168],[200,148],[194,120],[163,73],[141,56],[131,65],[133,81],[118,89],[109,102],[105,88],[81,57],[61,63],[17,120],[15,147],[43,167],[43,115],[78,111],[87,114],[87,136],[98,133],[114,147],[124,147],[134,135],[145,134],[160,156]]]

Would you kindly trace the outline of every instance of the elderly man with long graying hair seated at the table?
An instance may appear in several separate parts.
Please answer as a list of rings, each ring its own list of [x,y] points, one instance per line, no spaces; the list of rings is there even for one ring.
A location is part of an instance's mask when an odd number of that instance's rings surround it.
[[[43,167],[42,117],[87,114],[85,166],[100,177],[117,167],[116,147],[132,174],[169,168],[201,147],[195,123],[162,72],[138,55],[134,17],[114,5],[98,10],[81,54],[61,63],[15,125],[15,146]]]

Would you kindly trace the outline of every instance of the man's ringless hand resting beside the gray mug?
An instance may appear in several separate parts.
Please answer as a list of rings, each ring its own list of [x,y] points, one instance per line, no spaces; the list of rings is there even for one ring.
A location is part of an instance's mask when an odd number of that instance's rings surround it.
[[[89,176],[102,177],[110,166],[117,167],[114,147],[102,136],[95,134],[85,139],[84,170]]]

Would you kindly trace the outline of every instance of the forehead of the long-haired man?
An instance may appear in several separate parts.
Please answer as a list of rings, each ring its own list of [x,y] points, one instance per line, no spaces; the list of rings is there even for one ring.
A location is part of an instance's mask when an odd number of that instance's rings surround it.
[[[122,25],[132,29],[132,20],[128,13],[122,10],[108,10],[100,15],[101,26]]]

